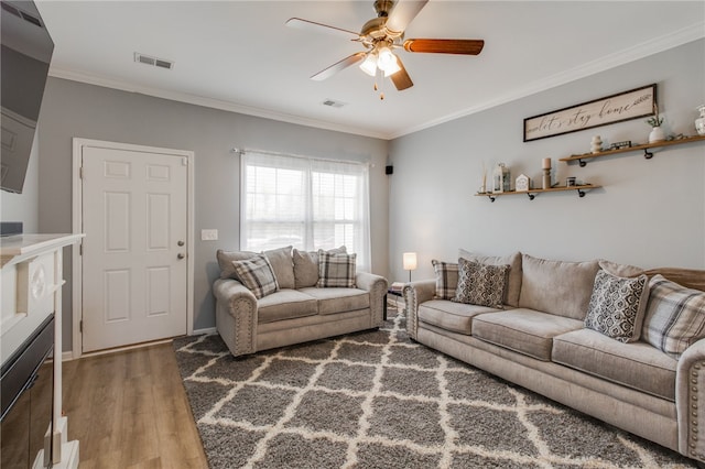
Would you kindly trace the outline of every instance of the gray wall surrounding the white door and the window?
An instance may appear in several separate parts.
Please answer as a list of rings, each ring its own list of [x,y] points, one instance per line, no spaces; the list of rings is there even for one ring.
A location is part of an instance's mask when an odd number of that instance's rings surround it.
[[[107,140],[195,152],[194,328],[215,326],[210,285],[217,249],[239,247],[239,157],[249,148],[326,159],[370,162],[372,271],[387,275],[388,142],[226,112],[76,81],[50,78],[41,116],[39,229],[72,230],[72,138]],[[200,230],[218,229],[218,241]],[[64,264],[64,343],[72,343],[72,272]]]

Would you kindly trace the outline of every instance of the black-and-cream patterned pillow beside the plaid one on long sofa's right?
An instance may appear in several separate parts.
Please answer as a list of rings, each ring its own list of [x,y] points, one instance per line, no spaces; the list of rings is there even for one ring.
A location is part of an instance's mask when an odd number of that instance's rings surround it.
[[[648,280],[643,274],[626,279],[598,271],[585,327],[625,343],[639,340],[649,298]]]

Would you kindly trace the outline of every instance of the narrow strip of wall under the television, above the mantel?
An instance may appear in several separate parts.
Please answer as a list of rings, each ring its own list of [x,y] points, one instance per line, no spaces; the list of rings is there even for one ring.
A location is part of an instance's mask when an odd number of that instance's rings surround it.
[[[37,232],[39,229],[39,138],[34,133],[30,163],[22,194],[0,190],[0,220],[22,221],[26,233]]]

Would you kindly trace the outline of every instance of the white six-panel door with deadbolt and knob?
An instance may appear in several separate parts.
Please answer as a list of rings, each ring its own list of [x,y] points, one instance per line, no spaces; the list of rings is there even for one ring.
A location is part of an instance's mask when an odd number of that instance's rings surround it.
[[[187,159],[84,146],[83,351],[186,334]]]

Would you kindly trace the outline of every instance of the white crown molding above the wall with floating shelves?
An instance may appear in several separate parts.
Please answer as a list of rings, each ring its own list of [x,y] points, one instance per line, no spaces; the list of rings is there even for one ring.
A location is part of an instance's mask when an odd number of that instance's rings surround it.
[[[540,81],[530,83],[523,88],[514,89],[511,92],[507,92],[502,96],[497,97],[496,99],[480,102],[477,106],[473,106],[471,108],[466,108],[462,111],[434,119],[432,121],[415,126],[410,129],[393,132],[391,135],[389,135],[389,139],[397,139],[410,133],[419,132],[421,130],[430,129],[432,127],[449,122],[452,120],[491,109],[500,105],[506,105],[517,99],[525,98],[528,96],[535,95],[538,92],[545,91],[547,89],[598,74],[600,72],[608,70],[610,68],[616,68],[620,65],[625,65],[630,62],[634,62],[640,58],[644,58],[650,55],[654,55],[660,52],[664,52],[670,48],[674,48],[680,45],[701,40],[703,37],[705,37],[705,21],[701,21],[691,26],[674,31],[671,34],[655,37],[639,45],[606,55],[596,61],[583,64],[578,67],[555,74],[551,77],[542,78]]]

